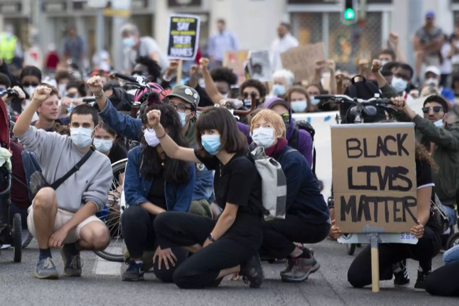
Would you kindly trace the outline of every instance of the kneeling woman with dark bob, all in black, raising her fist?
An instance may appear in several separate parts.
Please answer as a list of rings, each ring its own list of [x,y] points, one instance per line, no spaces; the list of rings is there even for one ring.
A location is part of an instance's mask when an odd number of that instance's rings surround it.
[[[166,212],[155,219],[162,249],[179,245],[194,253],[175,270],[173,282],[181,288],[213,287],[224,276],[239,273],[251,288],[260,287],[261,178],[245,155],[247,141],[235,118],[224,108],[203,111],[196,121],[197,149],[193,150],[167,136],[160,124],[161,112],[150,111],[147,117],[170,158],[215,170],[215,199],[223,208],[218,220],[182,212]]]

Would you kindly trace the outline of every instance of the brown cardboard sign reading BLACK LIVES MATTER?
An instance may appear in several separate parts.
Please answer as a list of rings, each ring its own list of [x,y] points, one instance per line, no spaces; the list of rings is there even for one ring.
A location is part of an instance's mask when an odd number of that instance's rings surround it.
[[[406,233],[417,223],[414,123],[331,126],[336,224],[344,233]]]

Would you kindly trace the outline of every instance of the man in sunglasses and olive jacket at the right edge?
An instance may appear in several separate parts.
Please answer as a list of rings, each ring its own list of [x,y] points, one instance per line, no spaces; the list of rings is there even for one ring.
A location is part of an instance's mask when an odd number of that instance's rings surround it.
[[[438,195],[449,217],[449,224],[456,223],[454,206],[459,186],[459,125],[448,123],[448,102],[439,95],[430,95],[424,100],[424,118],[417,115],[402,100],[395,103],[399,112],[415,123],[416,138],[430,152],[439,170],[433,172],[435,193]]]

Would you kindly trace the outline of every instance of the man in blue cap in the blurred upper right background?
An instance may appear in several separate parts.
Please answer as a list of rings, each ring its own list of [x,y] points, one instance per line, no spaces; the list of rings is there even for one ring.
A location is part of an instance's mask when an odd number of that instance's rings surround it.
[[[434,24],[435,13],[429,11],[425,14],[425,24],[416,31],[413,45],[416,51],[416,81],[419,83],[421,66],[440,65],[440,50],[443,46],[444,36],[442,29]],[[440,73],[439,73],[440,74]]]

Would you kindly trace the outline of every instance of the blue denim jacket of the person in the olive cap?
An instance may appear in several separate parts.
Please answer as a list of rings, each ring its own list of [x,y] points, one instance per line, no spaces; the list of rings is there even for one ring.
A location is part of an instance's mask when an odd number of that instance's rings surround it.
[[[126,116],[118,112],[110,100],[107,98],[107,105],[104,110],[99,113],[100,117],[116,131],[118,135],[128,139],[140,141],[139,136],[142,135],[142,120]],[[190,133],[187,134],[187,140],[193,144],[193,129],[195,119],[190,122]],[[207,169],[202,164],[197,164],[196,183],[194,186],[193,200],[206,199],[212,201],[214,191],[214,174],[213,171]]]

